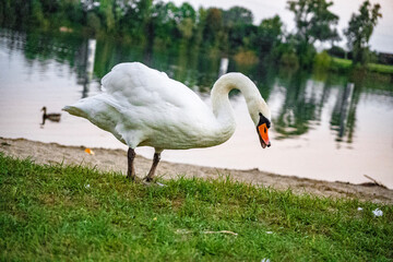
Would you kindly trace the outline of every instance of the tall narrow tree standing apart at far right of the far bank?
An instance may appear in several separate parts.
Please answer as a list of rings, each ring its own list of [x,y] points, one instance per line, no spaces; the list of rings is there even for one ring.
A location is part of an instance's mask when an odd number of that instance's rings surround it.
[[[348,47],[353,51],[354,64],[366,64],[369,61],[369,39],[373,28],[378,23],[378,19],[382,17],[380,13],[381,5],[371,3],[366,0],[360,9],[359,14],[353,14],[348,28],[344,32],[347,37]]]

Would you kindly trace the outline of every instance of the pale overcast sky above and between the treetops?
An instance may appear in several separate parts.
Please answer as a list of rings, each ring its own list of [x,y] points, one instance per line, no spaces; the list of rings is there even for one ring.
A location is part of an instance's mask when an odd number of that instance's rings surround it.
[[[184,2],[184,0],[171,1],[176,5]],[[215,7],[225,10],[234,5],[245,7],[252,11],[255,24],[259,24],[263,19],[278,14],[284,21],[287,31],[293,31],[295,27],[294,15],[286,9],[287,0],[188,0],[187,2],[191,3],[194,9],[201,5],[203,8]],[[334,0],[333,2],[334,4],[330,10],[340,16],[338,31],[343,35],[343,28],[347,27],[352,13],[358,12],[364,0]],[[370,0],[370,2],[378,2],[382,7],[382,19],[379,20],[371,36],[371,49],[393,53],[393,0]]]

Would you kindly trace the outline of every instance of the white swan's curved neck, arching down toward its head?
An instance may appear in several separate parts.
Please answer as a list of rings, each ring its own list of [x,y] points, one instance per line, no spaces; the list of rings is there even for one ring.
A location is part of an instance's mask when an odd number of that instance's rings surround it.
[[[234,109],[228,97],[231,90],[239,90],[245,96],[251,118],[251,110],[258,108],[258,103],[266,105],[257,86],[249,78],[241,73],[227,73],[217,80],[211,95],[213,114],[222,124],[231,123],[235,126]]]

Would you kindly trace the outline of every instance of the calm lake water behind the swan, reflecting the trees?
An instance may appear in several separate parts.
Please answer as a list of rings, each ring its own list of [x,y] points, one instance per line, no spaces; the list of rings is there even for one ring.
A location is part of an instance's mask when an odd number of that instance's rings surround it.
[[[64,145],[127,148],[87,120],[62,112],[41,124],[41,107],[64,105],[100,92],[99,80],[115,64],[141,61],[165,71],[210,104],[222,57],[187,47],[170,50],[121,45],[73,35],[25,34],[0,29],[0,136]],[[245,99],[230,95],[237,130],[226,143],[201,150],[164,151],[168,162],[329,181],[368,181],[393,188],[393,84],[390,76],[298,73],[229,60],[228,71],[249,75],[273,118],[272,146],[262,150]],[[139,154],[152,158],[153,150]],[[126,157],[126,154],[124,154]],[[138,164],[136,164],[138,167]]]

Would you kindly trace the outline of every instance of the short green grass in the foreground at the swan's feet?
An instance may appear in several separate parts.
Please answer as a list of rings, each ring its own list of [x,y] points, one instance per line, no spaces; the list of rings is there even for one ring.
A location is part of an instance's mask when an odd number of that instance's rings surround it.
[[[0,261],[389,261],[393,207],[0,154]],[[364,210],[358,211],[358,206]],[[383,216],[372,211],[381,209]],[[230,230],[229,234],[205,234]]]

